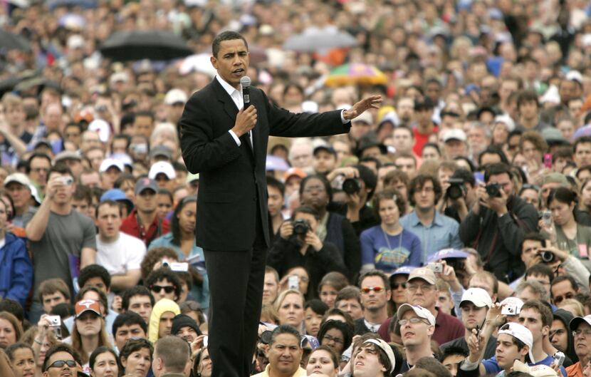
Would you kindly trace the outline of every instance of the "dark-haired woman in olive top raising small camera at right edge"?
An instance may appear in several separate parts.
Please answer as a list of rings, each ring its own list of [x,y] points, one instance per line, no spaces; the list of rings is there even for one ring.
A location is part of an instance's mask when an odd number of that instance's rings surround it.
[[[577,194],[566,187],[558,187],[548,195],[549,220],[540,220],[540,228],[558,249],[567,252],[589,264],[591,227],[579,224],[575,218]]]

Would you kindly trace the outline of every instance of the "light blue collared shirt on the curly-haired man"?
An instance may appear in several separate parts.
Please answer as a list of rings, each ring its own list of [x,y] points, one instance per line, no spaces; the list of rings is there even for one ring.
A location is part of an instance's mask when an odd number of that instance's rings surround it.
[[[435,211],[433,221],[427,226],[419,220],[416,210],[402,217],[400,225],[419,237],[422,247],[421,262],[423,264],[427,262],[430,255],[439,252],[441,249],[450,247],[461,249],[464,247],[459,237],[459,224],[451,217],[441,215],[437,211]]]

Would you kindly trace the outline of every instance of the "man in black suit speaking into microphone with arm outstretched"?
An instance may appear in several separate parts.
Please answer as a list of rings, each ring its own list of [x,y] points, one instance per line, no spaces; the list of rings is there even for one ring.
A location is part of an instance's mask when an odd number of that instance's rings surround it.
[[[247,377],[269,245],[268,136],[347,133],[350,120],[377,108],[381,98],[367,98],[342,112],[293,114],[251,88],[251,105],[243,109],[240,78],[249,68],[246,40],[225,31],[216,36],[212,50],[217,75],[185,105],[180,120],[182,155],[187,169],[199,173],[196,242],[204,249],[209,274],[212,376]]]

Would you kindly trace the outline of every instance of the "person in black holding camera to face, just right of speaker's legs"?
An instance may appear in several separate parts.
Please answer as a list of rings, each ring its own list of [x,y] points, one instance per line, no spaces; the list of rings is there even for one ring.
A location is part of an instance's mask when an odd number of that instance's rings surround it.
[[[279,228],[279,235],[267,254],[267,264],[283,276],[293,267],[308,271],[307,299],[318,298],[318,284],[325,274],[332,271],[347,273],[340,252],[334,244],[322,242],[316,229],[320,217],[312,207],[298,207],[291,221]]]

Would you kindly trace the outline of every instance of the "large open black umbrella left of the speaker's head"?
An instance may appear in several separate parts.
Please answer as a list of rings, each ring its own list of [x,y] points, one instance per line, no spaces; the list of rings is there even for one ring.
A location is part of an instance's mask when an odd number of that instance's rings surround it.
[[[171,60],[192,55],[184,39],[171,31],[115,31],[99,48],[115,61]]]

